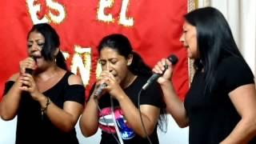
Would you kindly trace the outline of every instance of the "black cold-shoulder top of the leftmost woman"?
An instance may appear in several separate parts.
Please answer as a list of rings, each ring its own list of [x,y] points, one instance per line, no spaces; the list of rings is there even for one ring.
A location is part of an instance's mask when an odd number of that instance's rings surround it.
[[[59,108],[63,108],[66,101],[74,101],[84,106],[85,88],[81,85],[69,85],[68,78],[72,73],[67,72],[63,78],[49,90],[42,94],[50,98]],[[6,82],[5,92],[10,90],[14,82]],[[63,119],[65,121],[65,119]],[[49,118],[41,114],[41,106],[31,98],[30,94],[23,92],[18,107],[16,144],[46,144],[46,143],[78,143],[75,130],[69,133],[62,132],[54,126]]]

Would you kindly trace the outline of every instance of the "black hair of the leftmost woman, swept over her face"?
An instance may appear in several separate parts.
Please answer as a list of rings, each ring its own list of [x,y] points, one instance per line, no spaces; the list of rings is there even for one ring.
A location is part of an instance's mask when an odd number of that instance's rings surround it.
[[[42,57],[45,58],[46,61],[53,62],[55,60],[54,52],[60,46],[60,40],[56,30],[47,23],[39,23],[31,28],[27,38],[31,32],[38,32],[45,38],[45,43],[41,51]],[[66,60],[60,50],[56,56],[56,64],[62,69],[67,70]]]

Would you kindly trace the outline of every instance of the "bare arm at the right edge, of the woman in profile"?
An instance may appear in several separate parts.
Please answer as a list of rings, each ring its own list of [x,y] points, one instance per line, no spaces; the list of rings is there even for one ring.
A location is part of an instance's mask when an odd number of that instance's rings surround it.
[[[256,91],[254,84],[239,86],[230,92],[233,102],[241,120],[230,135],[221,143],[247,143],[256,134]]]

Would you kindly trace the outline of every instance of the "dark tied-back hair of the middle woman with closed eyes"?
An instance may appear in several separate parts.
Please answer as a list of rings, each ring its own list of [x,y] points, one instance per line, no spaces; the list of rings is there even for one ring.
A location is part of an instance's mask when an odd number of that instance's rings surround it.
[[[133,51],[130,41],[126,36],[122,34],[110,34],[102,38],[102,41],[98,45],[98,54],[104,48],[108,47],[118,52],[125,58],[128,58],[130,54],[133,55],[133,61],[128,69],[135,75],[144,75],[150,77],[152,70],[150,66],[142,60],[141,56]],[[160,96],[160,95],[159,95]],[[163,102],[160,108],[160,117],[158,119],[158,127],[163,132],[166,132],[167,118],[166,118],[166,104]]]

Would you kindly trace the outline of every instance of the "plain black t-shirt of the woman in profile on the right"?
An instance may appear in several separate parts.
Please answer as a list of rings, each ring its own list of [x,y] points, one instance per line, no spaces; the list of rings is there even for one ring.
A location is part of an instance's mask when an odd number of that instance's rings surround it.
[[[190,144],[217,144],[234,130],[241,117],[228,94],[238,86],[254,83],[254,75],[242,59],[229,57],[218,65],[215,81],[212,93],[206,90],[204,94],[204,73],[194,75],[185,98]]]

